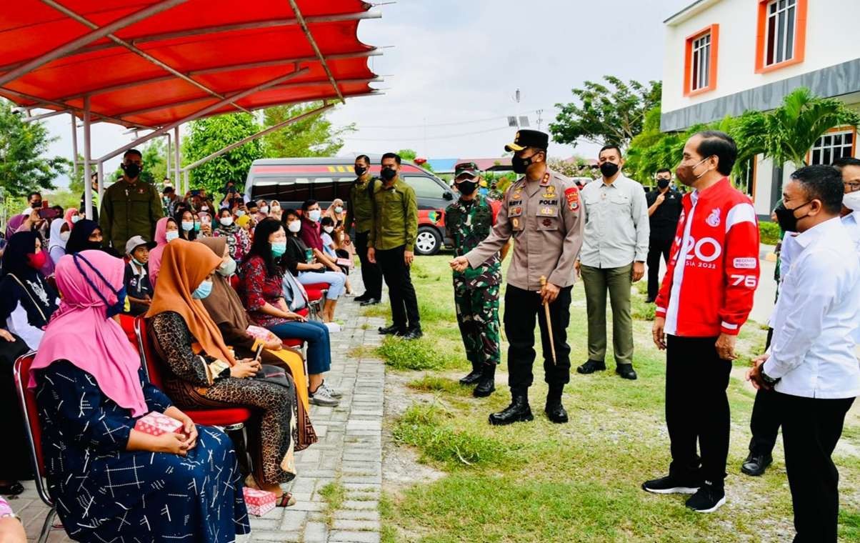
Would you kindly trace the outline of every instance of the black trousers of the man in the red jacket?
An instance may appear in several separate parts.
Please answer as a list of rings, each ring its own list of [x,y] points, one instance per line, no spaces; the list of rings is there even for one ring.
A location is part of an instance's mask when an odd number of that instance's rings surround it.
[[[716,354],[715,342],[716,337],[667,336],[666,425],[672,444],[669,472],[721,485],[728,458],[726,389],[732,363]]]

